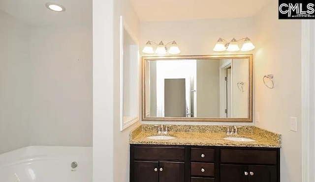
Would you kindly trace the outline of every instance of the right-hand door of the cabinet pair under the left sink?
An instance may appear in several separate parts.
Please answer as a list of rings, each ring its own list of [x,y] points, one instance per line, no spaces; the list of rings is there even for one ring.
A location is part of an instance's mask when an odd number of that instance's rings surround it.
[[[185,182],[184,162],[159,162],[159,182]]]

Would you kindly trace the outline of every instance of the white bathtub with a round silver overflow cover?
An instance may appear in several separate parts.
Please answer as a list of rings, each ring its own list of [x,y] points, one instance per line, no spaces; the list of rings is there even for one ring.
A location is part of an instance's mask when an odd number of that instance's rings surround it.
[[[0,182],[92,182],[92,147],[33,146],[1,154]]]

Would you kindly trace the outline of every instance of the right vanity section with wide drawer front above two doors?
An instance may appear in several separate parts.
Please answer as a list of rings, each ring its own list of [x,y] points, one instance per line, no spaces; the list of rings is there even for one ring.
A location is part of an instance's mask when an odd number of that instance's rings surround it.
[[[279,150],[220,150],[221,182],[279,182]]]

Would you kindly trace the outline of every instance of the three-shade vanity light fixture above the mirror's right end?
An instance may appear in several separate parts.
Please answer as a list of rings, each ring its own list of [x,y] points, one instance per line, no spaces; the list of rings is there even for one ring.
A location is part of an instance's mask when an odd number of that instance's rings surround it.
[[[255,49],[255,46],[252,44],[251,39],[249,39],[248,37],[245,37],[239,40],[236,40],[235,38],[233,38],[230,42],[227,42],[225,39],[219,38],[213,51],[216,51],[216,52],[240,51],[240,47],[238,45],[239,45],[239,41],[241,40],[244,40],[244,42],[242,42],[243,45],[242,45],[241,51],[245,52],[245,51],[251,51]]]

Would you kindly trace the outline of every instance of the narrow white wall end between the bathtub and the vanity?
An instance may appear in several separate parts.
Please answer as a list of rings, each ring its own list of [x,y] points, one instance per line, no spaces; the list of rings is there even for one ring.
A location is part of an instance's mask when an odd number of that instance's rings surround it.
[[[114,0],[93,0],[93,182],[114,182],[113,14]]]

